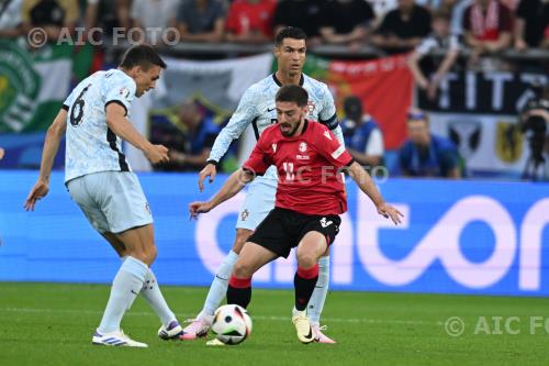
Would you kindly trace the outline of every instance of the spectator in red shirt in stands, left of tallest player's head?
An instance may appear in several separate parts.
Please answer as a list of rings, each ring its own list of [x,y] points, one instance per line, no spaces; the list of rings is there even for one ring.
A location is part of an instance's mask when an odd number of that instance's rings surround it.
[[[227,41],[265,43],[272,40],[276,0],[235,0],[226,19]]]

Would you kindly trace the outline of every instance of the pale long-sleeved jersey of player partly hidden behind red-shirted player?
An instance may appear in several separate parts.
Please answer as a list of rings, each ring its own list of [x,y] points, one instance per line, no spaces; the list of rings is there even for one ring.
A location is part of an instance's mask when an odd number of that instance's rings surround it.
[[[237,140],[250,123],[256,140],[259,140],[266,127],[277,123],[274,97],[281,86],[282,84],[277,79],[276,74],[271,74],[244,92],[233,117],[215,138],[209,160],[219,162],[227,152],[231,143]],[[304,74],[301,75],[300,86],[309,93],[309,114],[306,118],[321,122],[329,130],[333,130],[343,144],[343,134],[337,122],[334,97],[328,87],[324,82]],[[269,169],[265,176],[276,179],[276,169]]]

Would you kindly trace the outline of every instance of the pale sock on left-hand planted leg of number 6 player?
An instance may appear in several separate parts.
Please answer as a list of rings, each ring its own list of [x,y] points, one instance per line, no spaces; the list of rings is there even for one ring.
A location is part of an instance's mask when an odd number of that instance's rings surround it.
[[[111,296],[98,328],[100,333],[120,331],[122,317],[143,288],[147,271],[148,267],[143,262],[131,256],[125,258],[112,281]]]

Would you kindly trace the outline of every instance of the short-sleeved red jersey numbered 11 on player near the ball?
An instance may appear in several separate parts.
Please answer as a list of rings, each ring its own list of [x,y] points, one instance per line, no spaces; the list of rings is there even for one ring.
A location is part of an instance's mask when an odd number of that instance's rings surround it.
[[[347,211],[340,168],[352,157],[323,124],[305,120],[299,136],[285,137],[277,124],[267,127],[244,169],[262,175],[277,166],[278,208],[304,214],[340,214]]]

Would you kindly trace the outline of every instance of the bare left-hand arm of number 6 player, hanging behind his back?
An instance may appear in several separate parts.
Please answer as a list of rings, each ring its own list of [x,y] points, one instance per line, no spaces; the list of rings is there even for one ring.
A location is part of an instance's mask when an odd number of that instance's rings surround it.
[[[49,176],[54,166],[55,155],[59,148],[59,143],[67,130],[67,111],[61,109],[54,120],[54,123],[47,129],[44,151],[42,152],[42,162],[40,165],[40,175],[36,184],[26,197],[24,208],[26,211],[34,211],[36,201],[45,197],[49,191]]]

